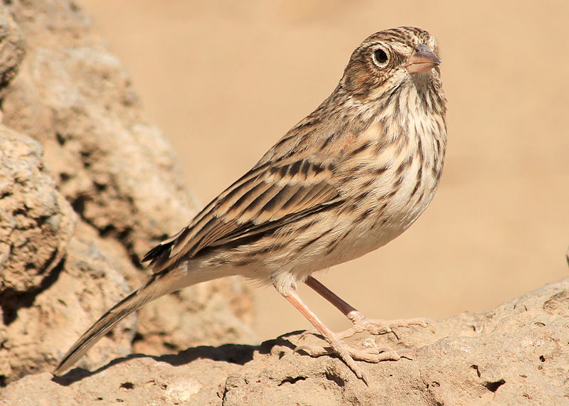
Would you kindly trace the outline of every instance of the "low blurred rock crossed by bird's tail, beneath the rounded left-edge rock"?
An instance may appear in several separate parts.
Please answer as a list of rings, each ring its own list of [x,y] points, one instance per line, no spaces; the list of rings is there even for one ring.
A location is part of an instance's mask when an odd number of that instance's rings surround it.
[[[93,237],[92,230],[80,223],[65,262],[42,289],[7,299],[15,307],[14,319],[0,324],[0,375],[7,382],[51,370],[92,321],[129,292],[120,265],[101,252]],[[112,338],[103,338],[82,365],[95,368],[127,355],[133,337],[134,316],[118,326]]]

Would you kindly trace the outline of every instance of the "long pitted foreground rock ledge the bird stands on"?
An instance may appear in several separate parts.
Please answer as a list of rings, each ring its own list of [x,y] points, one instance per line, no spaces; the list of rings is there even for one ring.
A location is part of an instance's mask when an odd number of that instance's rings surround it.
[[[429,328],[373,338],[413,350],[361,363],[366,386],[339,358],[294,353],[306,340],[289,333],[260,347],[198,347],[171,356],[128,356],[94,372],[28,375],[0,400],[164,405],[560,405],[569,402],[569,278],[486,313],[463,313]],[[370,342],[359,337],[354,345]]]

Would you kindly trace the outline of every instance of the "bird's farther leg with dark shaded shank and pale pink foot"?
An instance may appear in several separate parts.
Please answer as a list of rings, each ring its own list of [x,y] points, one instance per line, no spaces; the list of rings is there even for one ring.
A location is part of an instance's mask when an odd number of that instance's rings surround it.
[[[353,327],[349,328],[342,333],[338,333],[339,338],[348,338],[356,333],[361,333],[362,331],[368,331],[371,334],[385,334],[393,333],[395,337],[397,336],[397,330],[400,327],[410,327],[410,326],[421,326],[427,327],[427,319],[398,319],[398,320],[377,320],[368,319],[363,316],[357,309],[350,306],[346,301],[342,300],[334,292],[325,287],[323,284],[314,279],[314,277],[308,277],[306,283],[309,287],[314,289],[321,297],[324,297],[331,304],[336,306],[336,309],[341,311],[352,323]]]

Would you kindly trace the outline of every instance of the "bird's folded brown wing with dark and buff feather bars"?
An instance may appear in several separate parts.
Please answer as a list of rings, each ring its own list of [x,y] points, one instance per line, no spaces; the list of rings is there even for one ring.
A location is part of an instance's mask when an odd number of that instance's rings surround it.
[[[341,201],[334,164],[312,156],[259,163],[144,261],[160,272],[201,250],[258,237]]]

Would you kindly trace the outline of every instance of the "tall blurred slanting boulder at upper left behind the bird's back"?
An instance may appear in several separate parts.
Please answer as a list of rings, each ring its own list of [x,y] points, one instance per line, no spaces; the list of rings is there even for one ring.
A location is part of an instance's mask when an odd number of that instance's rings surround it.
[[[73,1],[15,1],[28,51],[2,103],[75,211],[134,259],[195,214],[169,144]],[[47,29],[46,29],[47,28]]]

